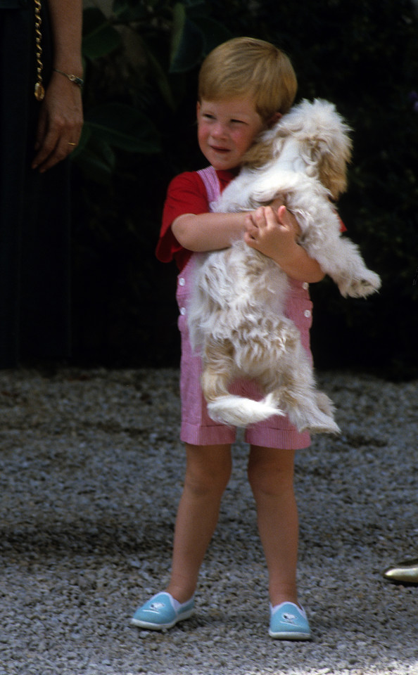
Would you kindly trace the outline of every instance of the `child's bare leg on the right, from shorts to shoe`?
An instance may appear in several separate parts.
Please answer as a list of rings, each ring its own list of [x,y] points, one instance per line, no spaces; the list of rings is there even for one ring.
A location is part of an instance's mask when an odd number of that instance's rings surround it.
[[[248,478],[257,504],[258,530],[269,572],[270,602],[298,602],[298,508],[293,491],[293,450],[251,446]]]

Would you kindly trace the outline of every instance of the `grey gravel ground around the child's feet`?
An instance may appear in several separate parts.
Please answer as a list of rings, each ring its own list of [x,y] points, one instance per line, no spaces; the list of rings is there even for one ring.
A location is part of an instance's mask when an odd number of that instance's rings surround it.
[[[417,382],[320,373],[343,430],[297,458],[300,599],[311,643],[267,634],[247,448],[201,573],[165,634],[129,619],[170,567],[182,489],[175,370],[0,372],[4,675],[417,675]]]

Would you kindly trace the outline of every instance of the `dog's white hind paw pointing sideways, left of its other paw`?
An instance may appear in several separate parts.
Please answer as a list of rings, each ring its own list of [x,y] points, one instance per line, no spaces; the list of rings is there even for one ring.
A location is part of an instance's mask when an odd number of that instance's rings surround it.
[[[272,394],[267,394],[262,401],[253,401],[253,399],[229,394],[210,401],[208,414],[215,422],[230,424],[234,427],[246,427],[249,424],[267,420],[272,415],[285,415],[286,413],[274,404]]]

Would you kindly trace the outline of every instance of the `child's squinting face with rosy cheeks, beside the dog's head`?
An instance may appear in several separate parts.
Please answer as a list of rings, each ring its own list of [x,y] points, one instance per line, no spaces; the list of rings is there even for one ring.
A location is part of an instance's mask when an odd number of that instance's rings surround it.
[[[251,98],[228,98],[197,104],[198,143],[214,169],[235,169],[265,128]]]

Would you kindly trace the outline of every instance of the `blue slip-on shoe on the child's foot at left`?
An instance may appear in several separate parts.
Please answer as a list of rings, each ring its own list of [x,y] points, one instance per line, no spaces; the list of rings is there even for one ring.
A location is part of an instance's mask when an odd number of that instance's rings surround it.
[[[139,628],[164,631],[177,622],[189,619],[194,610],[194,597],[179,605],[170,593],[157,593],[134,613],[131,623]]]

